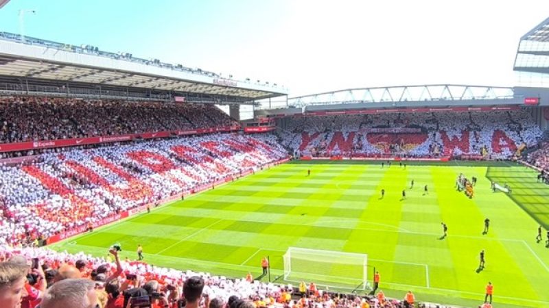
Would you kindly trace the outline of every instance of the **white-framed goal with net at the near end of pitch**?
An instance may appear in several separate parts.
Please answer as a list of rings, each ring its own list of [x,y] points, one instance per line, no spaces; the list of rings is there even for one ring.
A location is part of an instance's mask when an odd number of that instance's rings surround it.
[[[365,290],[368,255],[289,247],[284,255],[284,280]]]

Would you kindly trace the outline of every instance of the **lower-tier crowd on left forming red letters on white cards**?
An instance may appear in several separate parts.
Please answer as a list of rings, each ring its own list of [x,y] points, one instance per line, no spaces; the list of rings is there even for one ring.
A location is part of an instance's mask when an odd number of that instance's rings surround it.
[[[0,166],[0,244],[47,238],[288,156],[272,135],[211,134],[47,153]]]

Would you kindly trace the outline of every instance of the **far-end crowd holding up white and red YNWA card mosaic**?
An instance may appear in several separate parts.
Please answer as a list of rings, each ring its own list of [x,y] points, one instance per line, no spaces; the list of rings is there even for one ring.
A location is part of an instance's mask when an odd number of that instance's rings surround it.
[[[541,137],[527,110],[296,116],[281,123],[282,144],[297,155],[313,156],[476,154],[498,159]],[[465,144],[445,142],[464,136]],[[511,140],[511,149],[502,138]]]

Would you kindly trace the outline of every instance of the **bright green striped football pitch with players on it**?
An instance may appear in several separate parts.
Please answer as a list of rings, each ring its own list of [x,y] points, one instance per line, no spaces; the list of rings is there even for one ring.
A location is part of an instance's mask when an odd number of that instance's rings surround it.
[[[478,178],[474,198],[456,191],[460,173]],[[491,281],[495,307],[549,307],[545,233],[535,240],[539,224],[549,227],[549,190],[535,175],[508,163],[294,162],[51,247],[105,257],[118,242],[121,257],[135,259],[141,244],[154,266],[239,278],[259,276],[268,256],[270,279],[280,283],[288,282],[280,277],[290,246],[362,253],[369,280],[378,270],[388,296],[412,290],[418,300],[478,307]],[[492,192],[491,180],[508,183],[512,194]],[[441,222],[448,226],[442,239]],[[478,270],[482,250],[486,266]]]

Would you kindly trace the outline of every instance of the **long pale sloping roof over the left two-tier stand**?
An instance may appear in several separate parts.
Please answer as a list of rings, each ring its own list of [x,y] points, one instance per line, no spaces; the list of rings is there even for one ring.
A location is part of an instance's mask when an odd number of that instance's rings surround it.
[[[269,84],[223,78],[200,68],[145,60],[130,53],[110,53],[97,47],[21,37],[0,32],[0,75],[49,79],[71,83],[97,84],[124,88],[147,88],[189,94],[217,95],[235,101],[253,101],[287,94]]]

